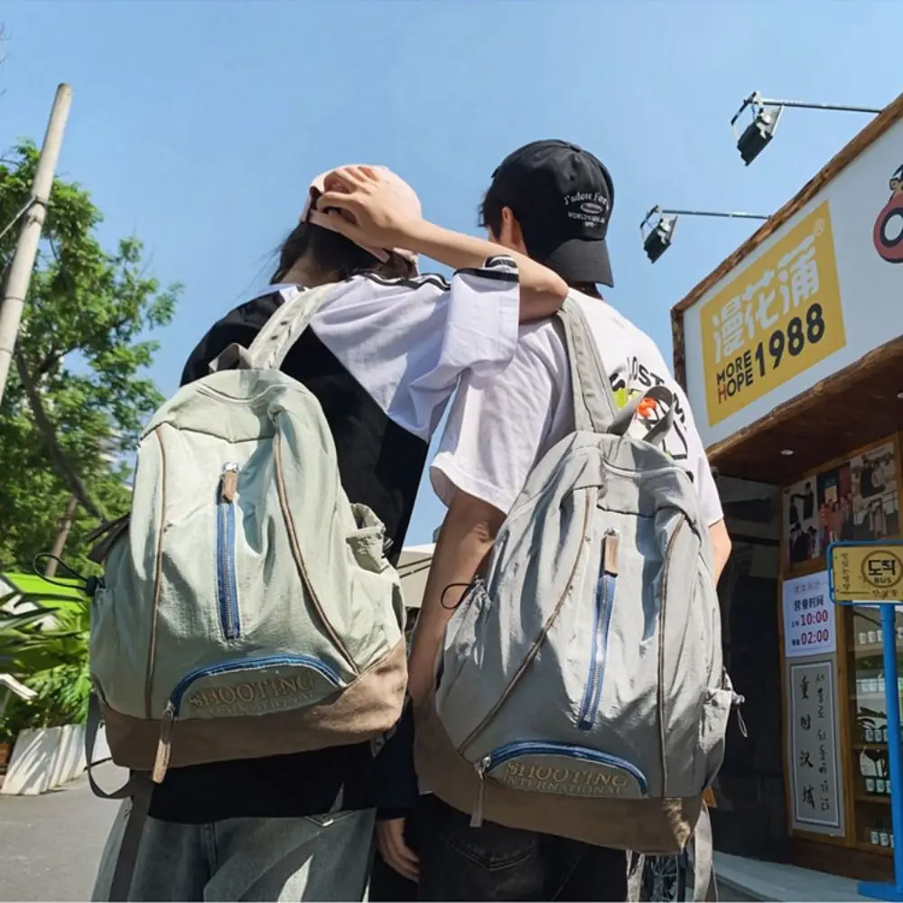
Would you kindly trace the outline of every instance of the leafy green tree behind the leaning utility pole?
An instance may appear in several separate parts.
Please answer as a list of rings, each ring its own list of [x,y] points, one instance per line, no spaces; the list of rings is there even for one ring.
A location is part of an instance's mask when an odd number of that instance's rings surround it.
[[[38,161],[23,142],[0,161],[0,227],[29,199]],[[79,498],[67,551],[98,519],[124,513],[128,453],[162,401],[147,377],[180,286],[147,275],[135,237],[109,252],[101,213],[78,183],[56,180],[3,405],[0,563],[27,565],[51,548],[67,502]],[[0,239],[4,274],[18,229]]]

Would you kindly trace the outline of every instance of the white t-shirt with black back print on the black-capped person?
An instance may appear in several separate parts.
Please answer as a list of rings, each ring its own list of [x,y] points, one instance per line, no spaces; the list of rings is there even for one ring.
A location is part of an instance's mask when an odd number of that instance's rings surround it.
[[[656,343],[600,298],[573,290],[571,295],[586,315],[619,405],[655,385],[664,384],[675,394],[675,424],[665,449],[693,479],[705,526],[718,523],[721,500],[703,442],[684,390]],[[535,464],[572,430],[571,375],[563,341],[552,321],[523,326],[507,368],[461,380],[430,470],[433,489],[446,505],[453,490],[461,489],[507,513]]]

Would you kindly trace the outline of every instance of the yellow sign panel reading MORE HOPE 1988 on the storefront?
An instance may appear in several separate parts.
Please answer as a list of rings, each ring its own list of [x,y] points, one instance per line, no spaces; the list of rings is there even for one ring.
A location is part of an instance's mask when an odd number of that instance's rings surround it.
[[[700,310],[709,424],[846,344],[825,200]]]

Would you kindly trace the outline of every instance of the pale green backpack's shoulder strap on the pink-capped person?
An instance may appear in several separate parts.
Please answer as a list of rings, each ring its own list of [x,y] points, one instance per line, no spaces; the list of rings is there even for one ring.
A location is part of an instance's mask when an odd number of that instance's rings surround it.
[[[301,338],[335,285],[330,283],[310,289],[300,286],[283,289],[284,293],[293,294],[265,322],[251,342],[251,347],[246,349],[237,344],[229,345],[219,358],[211,361],[210,370],[216,373],[236,367],[260,370],[282,368],[285,356]]]

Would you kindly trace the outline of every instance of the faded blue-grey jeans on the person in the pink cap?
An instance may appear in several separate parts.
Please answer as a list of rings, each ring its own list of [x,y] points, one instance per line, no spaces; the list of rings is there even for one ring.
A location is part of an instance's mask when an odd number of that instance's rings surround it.
[[[92,899],[109,898],[128,817],[116,815]],[[362,900],[374,812],[144,824],[130,900]]]

